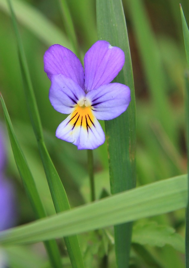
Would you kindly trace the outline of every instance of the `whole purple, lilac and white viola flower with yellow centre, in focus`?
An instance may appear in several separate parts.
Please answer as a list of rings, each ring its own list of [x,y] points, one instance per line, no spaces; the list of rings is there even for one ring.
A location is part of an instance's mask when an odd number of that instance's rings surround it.
[[[95,149],[105,141],[99,120],[123,113],[131,100],[130,89],[110,83],[125,62],[124,52],[97,41],[86,52],[84,68],[69,49],[50,46],[44,54],[44,71],[51,80],[49,99],[60,113],[70,114],[57,128],[56,137],[78,149]]]

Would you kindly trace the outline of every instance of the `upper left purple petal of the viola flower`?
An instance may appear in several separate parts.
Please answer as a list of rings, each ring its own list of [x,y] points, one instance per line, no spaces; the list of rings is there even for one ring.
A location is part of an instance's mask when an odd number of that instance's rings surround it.
[[[50,46],[44,54],[44,71],[51,80],[53,74],[63,74],[84,89],[84,71],[78,57],[64,46]]]

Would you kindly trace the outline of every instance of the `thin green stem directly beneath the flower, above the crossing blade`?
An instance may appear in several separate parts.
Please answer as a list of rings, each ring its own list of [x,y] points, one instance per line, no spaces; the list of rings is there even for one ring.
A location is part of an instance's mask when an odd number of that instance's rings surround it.
[[[91,201],[95,200],[95,188],[94,188],[94,167],[93,167],[93,153],[92,150],[87,150],[88,158],[88,170],[89,170],[89,180],[91,189]]]

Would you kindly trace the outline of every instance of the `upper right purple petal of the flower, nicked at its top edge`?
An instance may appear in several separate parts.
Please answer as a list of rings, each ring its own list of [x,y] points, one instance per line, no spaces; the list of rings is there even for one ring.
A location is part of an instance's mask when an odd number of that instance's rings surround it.
[[[85,91],[110,83],[125,62],[124,52],[107,41],[97,41],[84,57]]]

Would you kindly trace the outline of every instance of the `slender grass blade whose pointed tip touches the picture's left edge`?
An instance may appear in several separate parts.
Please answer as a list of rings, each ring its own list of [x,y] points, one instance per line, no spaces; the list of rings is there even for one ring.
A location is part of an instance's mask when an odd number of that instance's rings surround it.
[[[46,217],[46,214],[45,214],[41,199],[38,195],[38,191],[37,191],[37,188],[35,186],[34,179],[32,177],[30,169],[27,165],[25,157],[20,149],[18,141],[16,139],[6,105],[5,105],[4,100],[3,100],[1,95],[0,95],[0,99],[1,99],[1,104],[3,107],[4,117],[5,117],[5,121],[7,124],[7,129],[8,129],[8,133],[9,133],[9,137],[10,137],[10,143],[12,146],[15,162],[16,162],[19,174],[21,176],[24,189],[27,193],[27,196],[30,200],[30,203],[32,205],[32,208],[35,212],[36,217],[37,218],[44,218],[44,217]],[[45,247],[46,247],[47,252],[49,254],[49,259],[51,261],[52,267],[60,267],[61,256],[60,256],[56,241],[54,241],[54,240],[53,241],[46,241]]]

